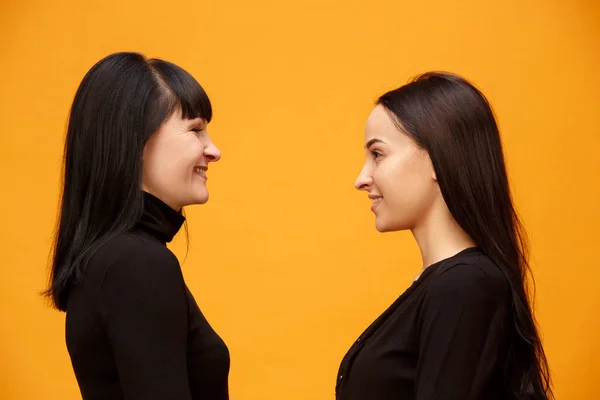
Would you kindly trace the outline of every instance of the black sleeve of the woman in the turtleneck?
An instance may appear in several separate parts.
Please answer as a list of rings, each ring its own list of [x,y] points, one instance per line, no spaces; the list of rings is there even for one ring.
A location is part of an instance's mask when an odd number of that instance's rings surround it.
[[[187,299],[179,263],[166,248],[132,251],[102,287],[106,331],[125,399],[191,400]]]

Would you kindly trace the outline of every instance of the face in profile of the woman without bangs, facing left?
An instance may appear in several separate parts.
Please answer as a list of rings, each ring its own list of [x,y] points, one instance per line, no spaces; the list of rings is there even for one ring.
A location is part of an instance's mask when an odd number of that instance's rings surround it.
[[[429,154],[376,106],[365,127],[367,159],[355,186],[372,200],[380,232],[413,229],[441,196]]]

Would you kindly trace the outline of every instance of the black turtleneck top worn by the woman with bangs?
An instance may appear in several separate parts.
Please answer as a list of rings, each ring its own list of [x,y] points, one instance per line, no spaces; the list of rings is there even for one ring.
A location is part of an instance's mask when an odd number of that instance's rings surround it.
[[[166,247],[185,218],[144,199],[140,222],[104,244],[69,293],[66,340],[83,399],[228,399],[227,347]]]

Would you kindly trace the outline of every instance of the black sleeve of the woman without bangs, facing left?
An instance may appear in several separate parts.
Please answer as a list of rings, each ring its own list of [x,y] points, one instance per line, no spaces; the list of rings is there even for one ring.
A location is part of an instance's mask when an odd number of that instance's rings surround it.
[[[482,399],[503,346],[508,281],[499,271],[458,265],[436,276],[426,290],[416,399]]]

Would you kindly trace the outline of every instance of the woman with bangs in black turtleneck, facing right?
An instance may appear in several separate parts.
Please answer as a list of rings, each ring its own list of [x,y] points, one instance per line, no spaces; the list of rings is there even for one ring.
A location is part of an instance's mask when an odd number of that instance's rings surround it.
[[[189,73],[138,53],[102,59],[75,94],[46,294],[86,400],[229,397],[227,347],[166,246],[208,200],[211,118]]]

